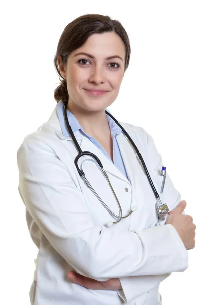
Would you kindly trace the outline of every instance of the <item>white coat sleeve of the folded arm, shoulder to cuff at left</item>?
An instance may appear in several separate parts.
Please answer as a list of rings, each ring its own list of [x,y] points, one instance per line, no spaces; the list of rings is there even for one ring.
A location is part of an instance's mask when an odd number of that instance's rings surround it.
[[[94,226],[64,163],[48,144],[31,142],[23,142],[17,153],[20,196],[42,233],[76,272],[106,281],[188,267],[186,253],[171,234],[172,225],[142,232]],[[160,247],[161,240],[167,249]]]

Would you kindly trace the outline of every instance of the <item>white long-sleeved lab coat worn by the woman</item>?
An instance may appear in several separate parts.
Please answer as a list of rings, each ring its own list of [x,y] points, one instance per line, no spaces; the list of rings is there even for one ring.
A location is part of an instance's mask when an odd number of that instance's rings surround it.
[[[121,124],[141,152],[160,193],[162,160],[152,138],[141,127]],[[106,227],[107,221],[116,219],[79,176],[74,165],[77,150],[71,137],[63,136],[55,107],[48,122],[24,139],[17,154],[18,190],[26,206],[31,238],[39,248],[31,304],[161,304],[160,282],[188,267],[183,242],[172,225],[158,221],[154,194],[122,133],[117,141],[131,182],[88,138],[79,131],[75,136],[83,151],[91,151],[101,160],[123,215],[131,206],[137,205],[138,209],[118,224]],[[88,158],[80,158],[79,166],[85,160],[83,170],[91,185],[119,214],[109,185]],[[180,194],[168,175],[161,198],[170,210],[180,202]],[[120,278],[122,290],[91,290],[72,284],[67,277],[70,270],[98,281]]]

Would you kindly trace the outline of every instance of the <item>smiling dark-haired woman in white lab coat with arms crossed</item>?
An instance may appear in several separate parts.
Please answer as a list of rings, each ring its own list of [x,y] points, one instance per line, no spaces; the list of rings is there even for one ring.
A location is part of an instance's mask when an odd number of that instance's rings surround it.
[[[54,93],[57,106],[17,155],[19,192],[39,249],[31,304],[161,304],[160,282],[188,267],[195,225],[184,215],[186,202],[180,203],[166,175],[160,195],[173,211],[166,223],[158,219],[142,164],[105,112],[117,98],[129,59],[127,33],[108,16],[80,16],[60,37],[54,59],[61,80]],[[152,138],[141,127],[122,126],[160,193],[162,160]],[[82,156],[78,167],[112,212],[128,217],[114,217],[80,177],[74,163],[78,149],[100,159],[122,214],[94,158]]]

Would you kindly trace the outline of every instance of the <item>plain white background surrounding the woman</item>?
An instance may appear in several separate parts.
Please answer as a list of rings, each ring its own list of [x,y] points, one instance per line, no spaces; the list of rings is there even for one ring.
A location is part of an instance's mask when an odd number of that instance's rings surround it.
[[[189,268],[160,285],[163,305],[209,302],[209,1],[7,1],[1,16],[1,296],[29,304],[36,246],[18,193],[16,153],[48,120],[59,79],[57,43],[76,17],[118,19],[131,59],[108,109],[153,137],[174,185],[193,216],[196,247]],[[163,262],[160,262],[163,263]],[[151,304],[152,305],[152,304]]]

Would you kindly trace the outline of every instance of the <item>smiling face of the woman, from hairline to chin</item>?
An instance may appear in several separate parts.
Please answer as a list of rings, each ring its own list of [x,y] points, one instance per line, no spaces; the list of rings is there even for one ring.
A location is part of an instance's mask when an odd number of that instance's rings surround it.
[[[115,101],[125,72],[125,57],[122,39],[111,31],[89,36],[81,47],[68,55],[65,64],[62,56],[58,56],[59,73],[68,88],[68,110],[77,119],[78,109],[103,115],[104,109]],[[101,96],[101,99],[93,99],[93,96]],[[105,123],[103,115],[101,128]],[[90,131],[87,127],[84,129]]]

